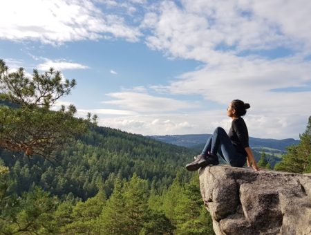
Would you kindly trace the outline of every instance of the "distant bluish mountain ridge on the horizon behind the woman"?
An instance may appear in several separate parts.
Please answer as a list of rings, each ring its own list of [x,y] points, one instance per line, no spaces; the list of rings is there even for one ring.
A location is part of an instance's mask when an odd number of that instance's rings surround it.
[[[194,148],[198,145],[205,144],[209,136],[211,136],[211,134],[148,135],[149,138],[154,140],[188,148]],[[272,149],[279,149],[281,151],[285,151],[286,147],[293,144],[299,144],[299,142],[299,140],[294,140],[292,138],[276,140],[249,137],[249,145],[251,147],[267,147]]]

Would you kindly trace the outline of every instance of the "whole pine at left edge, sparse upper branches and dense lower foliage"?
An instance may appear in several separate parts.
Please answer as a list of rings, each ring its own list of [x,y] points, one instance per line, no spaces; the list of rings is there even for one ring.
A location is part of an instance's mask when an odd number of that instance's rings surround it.
[[[53,68],[43,74],[34,70],[32,79],[26,77],[23,68],[10,73],[0,59],[0,147],[53,158],[55,149],[86,130],[85,121],[73,117],[75,106],[50,111],[75,85],[75,79],[63,82],[61,73]]]

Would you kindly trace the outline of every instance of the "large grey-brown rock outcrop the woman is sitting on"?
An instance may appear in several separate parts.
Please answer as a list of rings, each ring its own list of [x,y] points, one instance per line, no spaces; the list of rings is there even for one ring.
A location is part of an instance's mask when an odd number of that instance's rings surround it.
[[[216,234],[311,234],[311,176],[218,165],[200,169]]]

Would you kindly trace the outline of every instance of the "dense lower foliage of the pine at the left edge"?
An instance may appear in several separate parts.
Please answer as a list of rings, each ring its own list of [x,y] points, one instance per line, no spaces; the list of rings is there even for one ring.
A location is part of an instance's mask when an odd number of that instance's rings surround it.
[[[31,147],[30,155],[48,158],[84,129],[84,121],[70,112],[0,106],[0,138],[6,143],[1,145],[10,150],[26,151]]]

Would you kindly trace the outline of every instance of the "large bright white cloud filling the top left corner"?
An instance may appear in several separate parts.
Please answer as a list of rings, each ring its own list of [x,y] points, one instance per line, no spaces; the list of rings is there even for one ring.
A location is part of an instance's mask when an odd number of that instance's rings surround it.
[[[106,14],[91,0],[7,0],[0,8],[0,39],[45,44],[120,37],[138,41],[139,30],[122,17]]]

